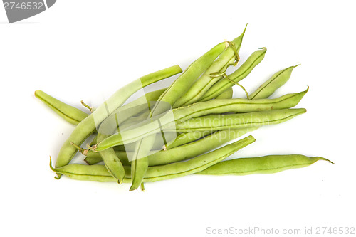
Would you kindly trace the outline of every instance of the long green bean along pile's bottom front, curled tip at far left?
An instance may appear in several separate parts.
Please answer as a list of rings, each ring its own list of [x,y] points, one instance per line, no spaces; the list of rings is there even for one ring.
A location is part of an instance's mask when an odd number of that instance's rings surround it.
[[[246,147],[255,141],[252,136],[245,137],[237,142],[228,144],[224,147],[214,150],[206,154],[202,154],[199,157],[194,157],[185,162],[177,162],[172,164],[166,164],[158,167],[148,167],[143,182],[161,181],[164,179],[173,179],[177,177],[183,177],[189,174],[201,172],[207,167],[220,162],[221,160],[234,154],[239,149]],[[63,167],[51,169],[57,174],[65,174],[72,179],[88,180],[88,181],[116,181],[114,177],[110,175],[107,169],[103,165],[85,165],[85,164],[67,164]],[[124,182],[132,182],[130,180],[130,167],[125,169]]]

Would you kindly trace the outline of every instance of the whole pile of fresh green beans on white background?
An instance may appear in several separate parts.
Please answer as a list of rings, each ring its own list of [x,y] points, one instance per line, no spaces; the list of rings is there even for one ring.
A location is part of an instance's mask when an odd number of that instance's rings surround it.
[[[251,135],[236,140],[239,137],[306,112],[293,107],[308,89],[269,98],[298,65],[278,71],[251,94],[240,84],[266,54],[266,48],[259,48],[237,66],[245,31],[233,41],[218,43],[184,72],[174,65],[145,75],[117,90],[95,110],[82,102],[90,109],[88,113],[36,90],[36,98],[75,125],[55,167],[50,159],[56,179],[65,175],[86,181],[130,183],[130,191],[138,187],[144,191],[146,182],[190,174],[270,174],[318,160],[330,162],[301,154],[224,160],[255,141]],[[237,69],[226,75],[230,66]],[[145,93],[124,105],[137,90],[179,73],[168,88]],[[234,85],[244,90],[246,98],[233,98]],[[91,140],[83,145],[87,139]],[[78,152],[85,156],[86,164],[70,163]]]

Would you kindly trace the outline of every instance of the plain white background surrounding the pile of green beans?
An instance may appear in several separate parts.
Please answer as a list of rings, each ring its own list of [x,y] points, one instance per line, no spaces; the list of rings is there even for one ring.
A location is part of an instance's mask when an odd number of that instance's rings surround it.
[[[354,5],[58,0],[13,24],[0,10],[0,236],[355,227]],[[35,90],[76,107],[80,100],[96,105],[141,75],[175,64],[187,68],[216,43],[239,36],[246,23],[241,60],[259,47],[268,51],[241,84],[252,92],[276,71],[301,63],[273,97],[310,90],[298,105],[305,115],[253,132],[256,142],[234,157],[305,154],[335,164],[245,177],[189,176],[146,184],[145,192],[129,192],[129,184],[53,179],[49,156],[56,159],[73,125],[34,98]]]

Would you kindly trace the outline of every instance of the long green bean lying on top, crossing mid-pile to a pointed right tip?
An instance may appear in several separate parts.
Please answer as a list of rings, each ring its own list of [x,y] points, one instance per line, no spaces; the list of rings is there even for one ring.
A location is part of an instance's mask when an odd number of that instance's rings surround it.
[[[156,120],[146,125],[133,128],[132,130],[125,130],[112,135],[103,142],[100,142],[95,149],[100,151],[108,149],[108,147],[135,142],[138,139],[142,139],[142,137],[159,132],[161,128],[166,129],[167,127],[172,127],[175,124],[183,122],[184,120],[189,120],[192,117],[224,112],[252,112],[294,107],[303,98],[307,91],[308,89],[301,93],[287,94],[276,99],[225,99],[197,102],[187,107],[180,107],[172,110],[174,113],[174,121],[172,121],[172,117],[170,115],[163,115],[162,117],[159,117],[159,122]]]

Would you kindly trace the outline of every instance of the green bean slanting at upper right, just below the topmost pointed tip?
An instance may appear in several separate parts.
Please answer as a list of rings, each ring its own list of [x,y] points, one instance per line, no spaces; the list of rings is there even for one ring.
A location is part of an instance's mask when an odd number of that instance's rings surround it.
[[[263,60],[267,49],[261,48],[261,50],[255,51],[251,54],[250,57],[239,67],[234,73],[229,75],[229,79],[233,80],[235,83],[238,83],[240,80],[246,78],[248,74],[251,73],[253,68],[256,67]],[[231,83],[229,80],[221,79],[216,82],[208,91],[206,91],[205,95],[200,98],[199,101],[207,101],[214,99],[217,95],[221,94],[227,88],[235,85]]]

